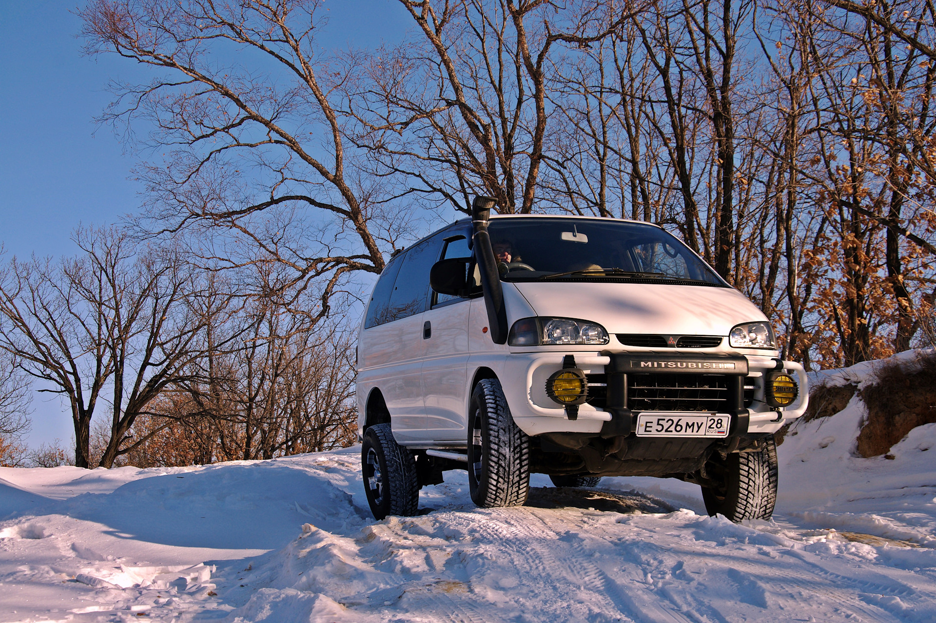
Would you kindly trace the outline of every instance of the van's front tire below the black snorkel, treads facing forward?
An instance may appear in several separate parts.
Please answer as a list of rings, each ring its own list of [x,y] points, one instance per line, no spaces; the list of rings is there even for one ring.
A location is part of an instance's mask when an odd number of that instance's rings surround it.
[[[521,506],[530,492],[530,438],[497,379],[484,379],[468,409],[468,487],[481,508]]]

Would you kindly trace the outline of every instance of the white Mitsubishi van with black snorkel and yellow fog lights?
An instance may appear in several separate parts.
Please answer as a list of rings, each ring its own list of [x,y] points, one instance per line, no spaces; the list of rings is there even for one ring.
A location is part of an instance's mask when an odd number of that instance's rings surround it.
[[[473,216],[389,261],[358,335],[358,432],[378,519],[467,470],[482,507],[530,474],[680,478],[709,514],[769,518],[773,434],[806,410],[764,313],[665,230]]]

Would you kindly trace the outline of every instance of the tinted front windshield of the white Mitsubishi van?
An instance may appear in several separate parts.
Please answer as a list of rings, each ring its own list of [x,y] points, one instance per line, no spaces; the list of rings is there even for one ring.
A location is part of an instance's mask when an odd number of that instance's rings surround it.
[[[724,286],[679,239],[653,225],[576,218],[491,219],[501,278],[531,281],[680,281]]]

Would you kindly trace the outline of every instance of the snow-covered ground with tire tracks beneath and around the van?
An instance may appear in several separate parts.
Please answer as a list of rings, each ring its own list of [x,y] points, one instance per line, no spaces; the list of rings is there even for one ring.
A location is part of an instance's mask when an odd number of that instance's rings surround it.
[[[870,367],[841,372],[862,381]],[[208,467],[0,470],[0,621],[936,621],[936,425],[856,458],[858,398],[787,435],[771,522],[606,478],[374,521],[359,448]]]

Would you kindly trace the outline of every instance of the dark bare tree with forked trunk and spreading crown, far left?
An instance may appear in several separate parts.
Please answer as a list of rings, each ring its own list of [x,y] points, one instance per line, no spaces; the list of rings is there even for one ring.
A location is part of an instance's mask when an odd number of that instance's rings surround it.
[[[197,280],[178,254],[139,247],[118,230],[82,231],[83,254],[53,263],[14,259],[0,280],[0,348],[62,396],[75,464],[110,467],[135,418],[203,352],[192,312]],[[90,454],[90,425],[110,393],[110,439]]]

